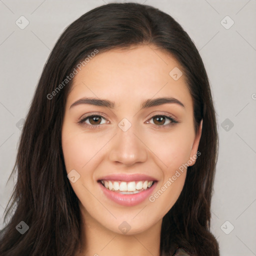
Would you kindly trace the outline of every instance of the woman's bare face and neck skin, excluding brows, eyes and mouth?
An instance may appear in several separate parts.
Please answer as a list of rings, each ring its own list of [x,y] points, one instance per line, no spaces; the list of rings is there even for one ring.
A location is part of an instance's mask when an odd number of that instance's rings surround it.
[[[160,255],[162,217],[177,200],[186,169],[153,202],[146,198],[134,206],[106,198],[97,179],[112,173],[145,173],[158,180],[154,194],[196,155],[202,122],[195,134],[185,75],[174,80],[169,75],[174,67],[181,70],[170,54],[143,45],[98,53],[75,75],[61,132],[66,171],[75,169],[80,175],[70,182],[82,216],[81,253],[76,255]],[[78,104],[69,109],[85,96],[112,100],[116,106]],[[165,103],[140,109],[142,100],[166,96],[178,99],[184,107]],[[151,117],[166,113],[178,123],[167,126],[167,118]],[[106,118],[87,118],[87,125],[99,124],[92,129],[78,123],[85,114]],[[123,118],[131,123],[125,132],[118,127]],[[193,158],[189,165],[194,162]],[[131,227],[126,234],[118,228],[123,221]]]

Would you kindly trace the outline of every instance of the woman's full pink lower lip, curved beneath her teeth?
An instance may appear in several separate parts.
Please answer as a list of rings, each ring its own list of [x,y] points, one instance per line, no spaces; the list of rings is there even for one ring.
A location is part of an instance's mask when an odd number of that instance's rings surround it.
[[[141,192],[135,194],[121,194],[118,192],[114,192],[105,188],[101,182],[99,182],[99,186],[103,190],[104,194],[107,198],[113,200],[114,202],[124,205],[124,206],[133,206],[141,203],[145,198],[148,198],[149,195],[153,192],[157,182],[154,182],[149,188],[143,190]]]

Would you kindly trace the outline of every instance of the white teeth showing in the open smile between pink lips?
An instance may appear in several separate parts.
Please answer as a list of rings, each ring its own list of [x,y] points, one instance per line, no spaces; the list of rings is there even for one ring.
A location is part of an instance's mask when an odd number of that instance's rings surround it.
[[[139,181],[111,181],[98,180],[105,188],[121,194],[135,194],[142,192],[151,187],[156,181],[154,180],[139,180]]]

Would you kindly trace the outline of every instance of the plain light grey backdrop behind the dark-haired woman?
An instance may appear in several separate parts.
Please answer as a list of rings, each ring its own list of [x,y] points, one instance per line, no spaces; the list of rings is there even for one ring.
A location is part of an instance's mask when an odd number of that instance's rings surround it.
[[[0,0],[0,227],[15,181],[7,179],[22,118],[50,50],[67,25],[108,2]],[[169,13],[199,50],[212,87],[220,139],[211,230],[221,255],[256,255],[256,0],[136,2]],[[29,21],[24,29],[15,23],[25,24],[21,15]]]

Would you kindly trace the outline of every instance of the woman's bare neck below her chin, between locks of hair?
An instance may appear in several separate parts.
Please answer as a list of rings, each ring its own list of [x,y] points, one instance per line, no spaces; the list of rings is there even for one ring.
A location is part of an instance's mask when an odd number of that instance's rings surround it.
[[[147,230],[136,234],[113,232],[81,211],[81,250],[77,256],[160,256],[160,232],[162,219]]]

